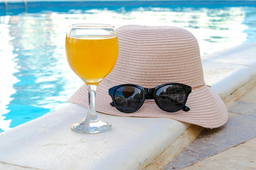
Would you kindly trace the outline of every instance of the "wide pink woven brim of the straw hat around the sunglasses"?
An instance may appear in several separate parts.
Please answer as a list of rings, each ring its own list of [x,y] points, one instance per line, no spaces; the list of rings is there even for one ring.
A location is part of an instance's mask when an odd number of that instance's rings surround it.
[[[117,84],[116,84],[117,85]],[[195,124],[204,128],[217,128],[226,123],[228,119],[227,108],[222,99],[206,85],[192,88],[192,92],[186,102],[189,111],[166,112],[160,109],[154,100],[145,100],[143,106],[133,113],[122,113],[110,105],[112,99],[108,95],[108,89],[112,85],[102,81],[97,88],[96,110],[115,116],[124,117],[155,117],[169,118],[177,121]],[[88,106],[88,92],[85,84],[81,86],[67,102]]]

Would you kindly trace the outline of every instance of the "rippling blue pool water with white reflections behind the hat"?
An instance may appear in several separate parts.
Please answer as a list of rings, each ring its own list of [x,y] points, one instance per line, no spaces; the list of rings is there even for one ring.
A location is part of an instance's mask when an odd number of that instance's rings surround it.
[[[256,2],[0,2],[0,132],[66,106],[83,84],[65,58],[74,22],[180,26],[203,55],[256,41]]]

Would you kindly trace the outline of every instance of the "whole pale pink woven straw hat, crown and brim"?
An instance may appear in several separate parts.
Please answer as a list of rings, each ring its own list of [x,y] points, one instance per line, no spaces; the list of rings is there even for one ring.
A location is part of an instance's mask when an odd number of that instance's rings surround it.
[[[227,108],[220,97],[204,83],[200,49],[195,36],[175,26],[125,25],[117,29],[119,56],[112,72],[97,88],[96,110],[125,117],[162,117],[217,128],[227,121]],[[153,88],[164,83],[177,82],[192,87],[186,106],[188,112],[165,112],[154,100],[145,100],[133,113],[122,113],[110,106],[108,89],[119,84],[137,84]],[[87,107],[85,85],[68,102]]]

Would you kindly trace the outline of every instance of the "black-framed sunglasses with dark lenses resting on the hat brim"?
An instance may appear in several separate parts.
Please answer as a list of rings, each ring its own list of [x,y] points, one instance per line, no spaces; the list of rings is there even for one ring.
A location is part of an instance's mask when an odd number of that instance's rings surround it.
[[[189,111],[185,106],[191,86],[180,83],[166,83],[155,88],[144,88],[135,84],[121,84],[108,90],[111,106],[124,113],[132,113],[141,108],[145,99],[155,99],[159,108],[166,112]]]

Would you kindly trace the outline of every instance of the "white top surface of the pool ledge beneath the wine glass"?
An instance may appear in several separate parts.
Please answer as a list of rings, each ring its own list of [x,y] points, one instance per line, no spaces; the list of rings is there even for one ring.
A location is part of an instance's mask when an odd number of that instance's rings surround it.
[[[85,113],[86,108],[71,104],[2,132],[0,152],[7,154],[1,154],[0,167],[7,169],[11,163],[12,167],[46,170],[143,169],[190,126],[170,119],[99,113],[100,119],[112,123],[112,131],[99,135],[73,132],[70,125]]]

